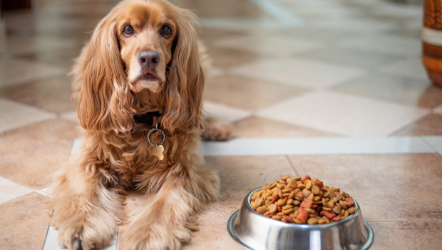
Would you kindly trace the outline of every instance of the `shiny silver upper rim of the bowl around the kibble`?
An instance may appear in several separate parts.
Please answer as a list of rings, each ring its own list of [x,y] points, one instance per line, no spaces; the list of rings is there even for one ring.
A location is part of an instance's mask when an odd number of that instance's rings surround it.
[[[278,221],[276,219],[272,219],[272,218],[269,218],[269,217],[264,216],[262,214],[259,214],[257,211],[255,211],[252,208],[252,205],[250,204],[250,197],[252,197],[252,194],[254,194],[255,191],[259,191],[263,186],[267,186],[267,185],[258,186],[256,189],[253,189],[252,191],[250,191],[249,194],[247,194],[247,196],[245,197],[245,201],[246,201],[245,204],[247,206],[247,209],[249,209],[253,213],[255,213],[255,214],[259,215],[259,216],[262,216],[262,217],[264,217],[266,219],[270,219],[272,221],[275,221],[279,226],[284,225],[284,226],[299,227],[299,228],[324,229],[324,228],[327,228],[327,227],[330,227],[330,226],[344,224],[344,223],[346,223],[346,221],[350,221],[351,219],[353,219],[353,217],[356,216],[356,214],[360,213],[359,204],[356,202],[356,200],[352,196],[350,196],[351,199],[354,200],[354,207],[356,208],[356,211],[354,212],[354,214],[349,214],[349,216],[347,216],[345,219],[341,219],[340,221],[333,221],[333,222],[326,223],[326,224],[313,224],[313,225],[310,225],[310,224],[296,224],[296,223],[288,223],[288,222],[284,222],[284,221]]]

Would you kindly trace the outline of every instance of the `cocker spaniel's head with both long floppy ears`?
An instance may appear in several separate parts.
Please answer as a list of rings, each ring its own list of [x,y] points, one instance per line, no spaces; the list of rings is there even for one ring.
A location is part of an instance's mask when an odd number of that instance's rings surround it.
[[[163,0],[123,1],[96,27],[75,70],[81,81],[78,115],[85,129],[133,129],[134,96],[163,109],[168,131],[202,126],[204,75],[197,19]]]

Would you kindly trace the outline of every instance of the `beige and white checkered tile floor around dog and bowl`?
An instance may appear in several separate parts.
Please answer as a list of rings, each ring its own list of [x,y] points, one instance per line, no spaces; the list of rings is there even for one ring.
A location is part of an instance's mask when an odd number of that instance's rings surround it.
[[[205,109],[235,126],[231,141],[205,144],[222,198],[184,249],[241,249],[227,219],[283,174],[354,196],[374,229],[371,249],[440,249],[442,89],[421,66],[421,4],[173,2],[202,22],[213,65]],[[0,249],[56,247],[48,186],[81,142],[66,74],[115,1],[34,4],[0,21]]]

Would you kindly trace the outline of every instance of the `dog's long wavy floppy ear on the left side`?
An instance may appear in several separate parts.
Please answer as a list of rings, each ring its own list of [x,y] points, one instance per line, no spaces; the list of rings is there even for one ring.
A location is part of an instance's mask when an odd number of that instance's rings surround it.
[[[133,95],[118,48],[116,12],[101,20],[74,66],[81,82],[78,118],[84,129],[124,133],[133,126]]]

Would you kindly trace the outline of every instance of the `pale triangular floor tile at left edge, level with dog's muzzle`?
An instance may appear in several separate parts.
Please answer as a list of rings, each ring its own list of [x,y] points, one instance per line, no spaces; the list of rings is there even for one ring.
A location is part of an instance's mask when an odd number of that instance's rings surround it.
[[[48,79],[67,73],[68,71],[57,66],[47,66],[33,61],[17,59],[0,59],[0,88],[14,86],[26,81]]]

